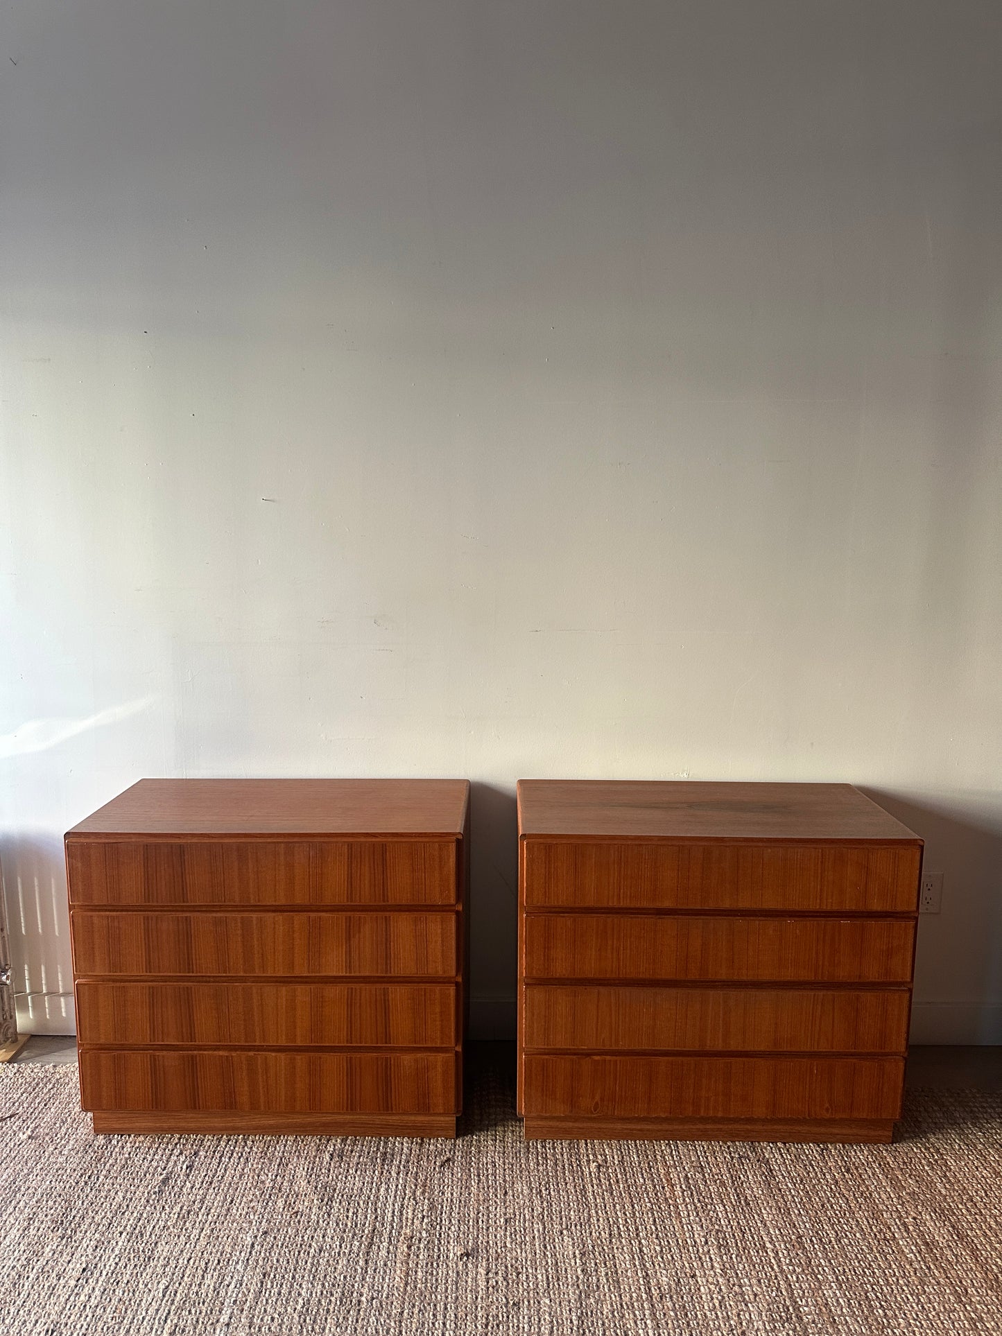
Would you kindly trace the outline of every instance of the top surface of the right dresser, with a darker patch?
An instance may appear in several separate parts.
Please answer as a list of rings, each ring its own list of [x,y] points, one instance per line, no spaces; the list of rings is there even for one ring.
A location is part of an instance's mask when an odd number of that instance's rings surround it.
[[[709,780],[522,779],[518,832],[584,839],[921,843],[851,784]]]

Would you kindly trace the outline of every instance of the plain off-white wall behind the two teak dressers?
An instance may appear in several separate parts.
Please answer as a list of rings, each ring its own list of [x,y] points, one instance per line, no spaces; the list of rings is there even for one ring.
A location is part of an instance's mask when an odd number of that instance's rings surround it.
[[[1002,1042],[1002,12],[13,0],[3,867],[140,775],[852,780],[946,875],[916,1038]]]

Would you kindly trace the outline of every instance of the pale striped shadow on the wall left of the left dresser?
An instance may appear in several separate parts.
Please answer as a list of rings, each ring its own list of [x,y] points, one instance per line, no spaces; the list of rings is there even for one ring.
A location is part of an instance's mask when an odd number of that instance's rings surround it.
[[[0,846],[17,1027],[72,1034],[73,973],[63,842],[48,834],[5,838]]]

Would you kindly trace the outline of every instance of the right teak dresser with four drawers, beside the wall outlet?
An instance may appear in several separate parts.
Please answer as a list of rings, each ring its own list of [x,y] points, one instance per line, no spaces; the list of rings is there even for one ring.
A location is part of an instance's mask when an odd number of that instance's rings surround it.
[[[522,780],[526,1137],[890,1141],[922,840],[850,784]]]

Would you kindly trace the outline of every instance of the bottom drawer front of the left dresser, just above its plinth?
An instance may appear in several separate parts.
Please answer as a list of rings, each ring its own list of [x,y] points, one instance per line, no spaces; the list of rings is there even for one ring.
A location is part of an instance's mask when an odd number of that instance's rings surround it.
[[[84,1109],[456,1113],[453,1053],[80,1050]]]

